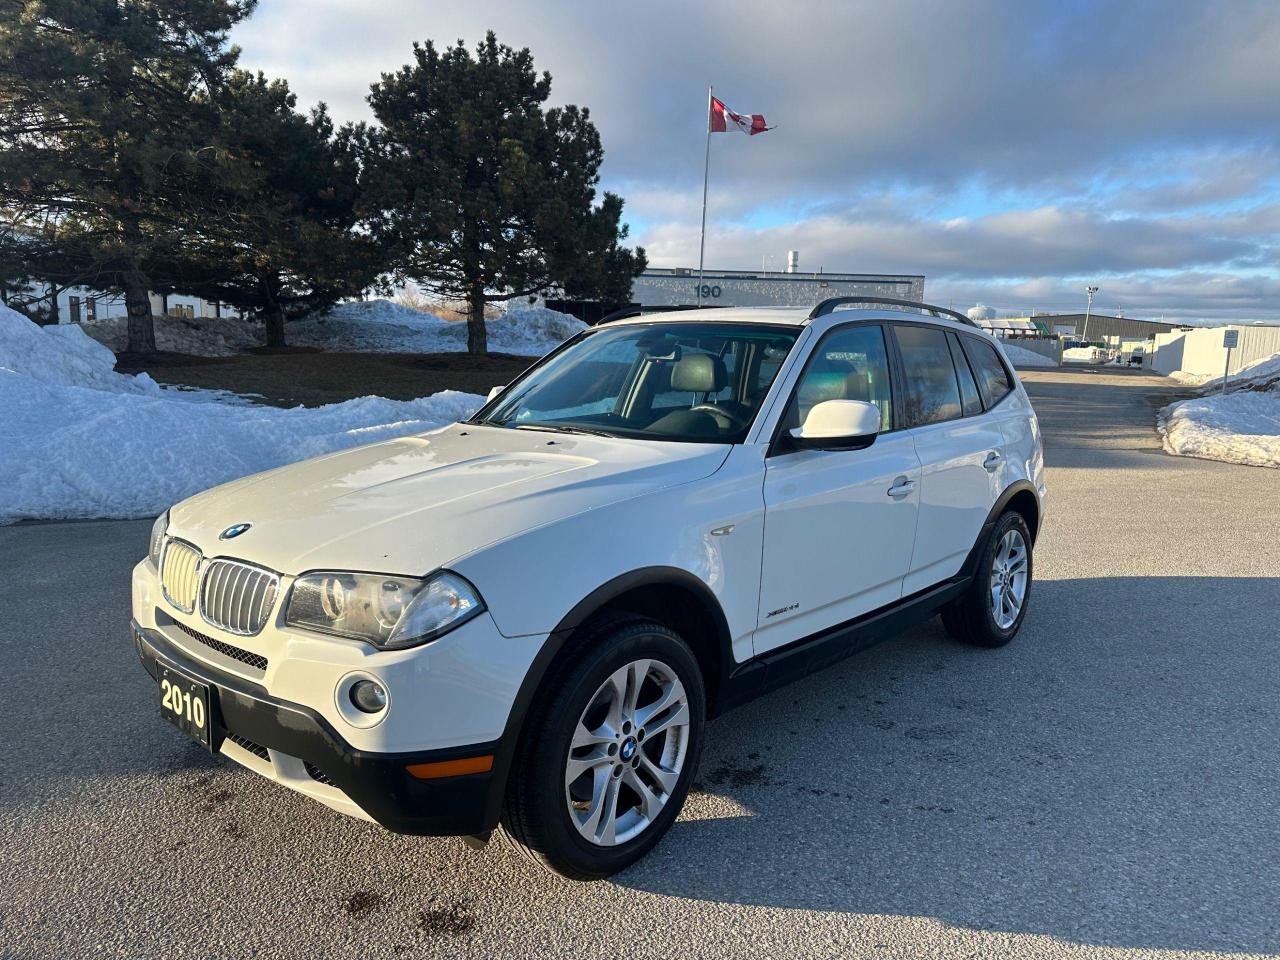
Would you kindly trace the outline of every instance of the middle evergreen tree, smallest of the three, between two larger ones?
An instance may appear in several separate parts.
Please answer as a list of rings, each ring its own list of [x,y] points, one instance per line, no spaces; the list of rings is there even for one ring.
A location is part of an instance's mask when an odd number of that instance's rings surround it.
[[[358,294],[383,268],[357,232],[357,163],[321,104],[308,116],[284,81],[233,72],[219,92],[216,215],[174,269],[188,293],[257,314],[283,347],[285,320]]]

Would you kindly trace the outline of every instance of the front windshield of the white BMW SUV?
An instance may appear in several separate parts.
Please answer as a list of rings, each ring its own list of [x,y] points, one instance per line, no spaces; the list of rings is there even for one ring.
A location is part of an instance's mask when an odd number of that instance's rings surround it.
[[[741,443],[797,334],[741,323],[604,326],[527,371],[474,422]]]

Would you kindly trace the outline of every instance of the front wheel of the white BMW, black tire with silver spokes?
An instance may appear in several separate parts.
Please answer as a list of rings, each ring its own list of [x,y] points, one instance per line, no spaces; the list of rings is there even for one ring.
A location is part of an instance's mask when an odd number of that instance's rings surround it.
[[[575,646],[544,682],[502,822],[536,863],[586,881],[630,867],[669,829],[707,701],[696,658],[660,623],[599,623]]]

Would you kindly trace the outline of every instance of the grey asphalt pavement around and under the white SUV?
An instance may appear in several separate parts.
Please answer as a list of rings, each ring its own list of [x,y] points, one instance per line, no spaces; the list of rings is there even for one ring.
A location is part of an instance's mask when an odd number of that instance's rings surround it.
[[[127,636],[150,522],[0,529],[0,955],[1280,951],[1280,474],[1166,456],[1162,378],[1024,380],[1019,639],[933,622],[717,721],[682,820],[596,884],[209,756]]]

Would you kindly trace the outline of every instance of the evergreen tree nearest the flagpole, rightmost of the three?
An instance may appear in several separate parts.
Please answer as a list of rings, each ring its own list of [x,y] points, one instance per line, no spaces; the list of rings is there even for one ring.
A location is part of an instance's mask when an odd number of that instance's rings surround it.
[[[369,96],[378,127],[347,137],[367,159],[371,229],[398,273],[467,303],[467,348],[485,353],[484,307],[553,285],[630,297],[622,201],[595,204],[604,151],[585,109],[545,109],[549,73],[490,32],[475,56],[413,45]],[[576,279],[584,278],[584,279]]]

